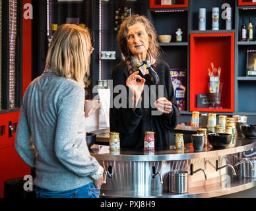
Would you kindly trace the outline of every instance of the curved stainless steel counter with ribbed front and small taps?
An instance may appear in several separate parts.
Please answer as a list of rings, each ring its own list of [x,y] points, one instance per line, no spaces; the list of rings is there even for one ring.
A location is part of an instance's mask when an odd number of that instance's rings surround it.
[[[179,125],[177,130],[196,131],[196,128]],[[88,132],[89,130],[87,130]],[[108,128],[91,128],[96,135],[108,134]],[[106,138],[105,138],[106,140]],[[98,160],[105,172],[112,169],[112,176],[105,173],[106,184],[102,185],[102,197],[215,197],[224,196],[256,187],[256,179],[242,177],[241,166],[236,166],[238,176],[234,177],[230,168],[216,171],[216,161],[220,166],[234,165],[243,152],[256,147],[256,138],[237,138],[236,144],[230,148],[203,148],[203,152],[194,152],[193,144],[185,144],[184,150],[174,146],[156,149],[154,152],[144,152],[142,149],[121,148],[119,152],[110,152],[109,146],[94,144],[90,148],[92,156]],[[203,168],[203,173],[190,175],[190,167]],[[111,168],[110,168],[111,167]],[[152,177],[152,169],[161,172],[162,178]],[[174,194],[169,192],[168,173],[182,170],[189,173],[188,193]]]

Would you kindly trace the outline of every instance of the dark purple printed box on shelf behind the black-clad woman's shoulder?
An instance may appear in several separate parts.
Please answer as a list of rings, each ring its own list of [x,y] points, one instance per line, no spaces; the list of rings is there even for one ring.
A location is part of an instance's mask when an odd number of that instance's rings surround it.
[[[174,94],[180,111],[185,110],[186,69],[170,69]]]

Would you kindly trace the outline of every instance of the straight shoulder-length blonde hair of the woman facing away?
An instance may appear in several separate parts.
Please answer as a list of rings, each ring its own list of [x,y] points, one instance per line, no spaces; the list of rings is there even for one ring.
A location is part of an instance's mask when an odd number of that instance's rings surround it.
[[[72,78],[84,87],[84,76],[90,73],[91,47],[87,28],[63,24],[53,34],[46,57],[46,69],[57,76]]]

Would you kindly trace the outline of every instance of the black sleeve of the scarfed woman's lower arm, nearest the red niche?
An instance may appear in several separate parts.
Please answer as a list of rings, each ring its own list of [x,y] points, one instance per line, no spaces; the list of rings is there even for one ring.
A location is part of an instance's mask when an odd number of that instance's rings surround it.
[[[173,108],[170,113],[163,113],[164,126],[168,130],[173,130],[179,121],[179,107],[177,106],[176,98],[174,95],[174,86],[172,86],[172,80],[170,77],[170,68],[167,63],[164,65],[164,83],[167,90],[168,100],[172,102]]]

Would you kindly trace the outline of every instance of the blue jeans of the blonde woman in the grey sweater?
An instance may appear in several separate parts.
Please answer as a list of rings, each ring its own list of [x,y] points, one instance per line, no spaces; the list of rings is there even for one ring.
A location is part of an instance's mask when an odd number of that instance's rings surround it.
[[[69,191],[48,191],[36,187],[36,198],[99,198],[99,196],[100,189],[96,189],[94,183]]]

